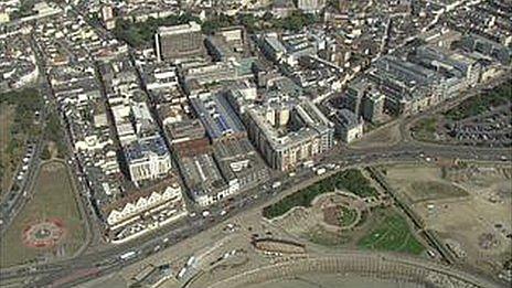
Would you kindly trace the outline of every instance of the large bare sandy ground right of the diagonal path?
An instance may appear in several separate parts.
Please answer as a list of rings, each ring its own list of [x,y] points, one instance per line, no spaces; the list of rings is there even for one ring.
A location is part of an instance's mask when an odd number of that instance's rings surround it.
[[[512,253],[511,169],[399,166],[387,181],[460,262],[498,273]]]

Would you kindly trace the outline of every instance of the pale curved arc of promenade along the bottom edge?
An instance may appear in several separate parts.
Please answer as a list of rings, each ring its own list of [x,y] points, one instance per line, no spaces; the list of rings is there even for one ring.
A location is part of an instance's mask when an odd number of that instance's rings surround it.
[[[478,275],[423,258],[362,250],[337,250],[316,254],[295,260],[260,266],[218,280],[217,282],[205,284],[199,279],[199,284],[191,281],[190,285],[184,285],[183,287],[205,287],[205,285],[207,285],[207,288],[234,288],[247,285],[253,287],[254,284],[268,281],[276,281],[278,284],[284,278],[294,279],[313,274],[344,274],[348,278],[354,276],[375,279],[382,279],[383,276],[384,278],[392,277],[391,280],[395,280],[398,287],[401,287],[398,285],[401,281],[423,282],[428,281],[428,279],[431,281],[433,278],[438,280],[436,287],[500,287],[499,284],[482,279]],[[374,285],[377,284],[375,282]],[[324,286],[318,285],[318,287]]]

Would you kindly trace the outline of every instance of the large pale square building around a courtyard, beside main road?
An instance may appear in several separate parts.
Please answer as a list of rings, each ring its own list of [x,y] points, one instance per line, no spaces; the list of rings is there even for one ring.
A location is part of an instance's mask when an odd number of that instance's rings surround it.
[[[249,138],[274,169],[294,169],[333,145],[332,122],[310,100],[270,100],[247,114]]]

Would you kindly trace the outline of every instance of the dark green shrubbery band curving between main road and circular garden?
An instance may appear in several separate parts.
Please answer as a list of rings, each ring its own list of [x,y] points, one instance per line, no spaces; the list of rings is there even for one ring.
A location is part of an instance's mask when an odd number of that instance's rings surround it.
[[[333,192],[335,189],[346,190],[362,198],[376,196],[378,193],[370,181],[358,169],[341,171],[328,177],[306,189],[290,194],[275,204],[266,206],[263,215],[267,218],[280,216],[295,206],[308,207],[311,201],[323,193]]]

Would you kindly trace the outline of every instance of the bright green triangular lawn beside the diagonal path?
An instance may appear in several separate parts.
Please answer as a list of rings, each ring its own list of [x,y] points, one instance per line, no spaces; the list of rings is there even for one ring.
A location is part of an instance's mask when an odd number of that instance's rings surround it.
[[[358,243],[362,249],[420,254],[425,247],[410,232],[407,221],[394,210],[386,210],[385,217]]]

